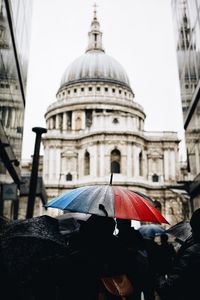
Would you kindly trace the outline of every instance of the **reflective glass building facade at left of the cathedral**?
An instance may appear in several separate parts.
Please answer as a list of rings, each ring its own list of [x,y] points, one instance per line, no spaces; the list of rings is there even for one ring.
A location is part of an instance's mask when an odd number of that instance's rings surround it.
[[[17,203],[32,0],[0,0],[0,211]]]

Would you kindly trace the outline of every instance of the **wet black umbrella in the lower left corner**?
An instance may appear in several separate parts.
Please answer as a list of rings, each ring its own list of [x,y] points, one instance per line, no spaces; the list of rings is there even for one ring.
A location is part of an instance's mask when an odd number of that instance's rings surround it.
[[[64,260],[68,251],[58,220],[50,216],[7,222],[0,238],[0,262],[16,284],[30,282],[45,270],[44,265],[50,268]]]

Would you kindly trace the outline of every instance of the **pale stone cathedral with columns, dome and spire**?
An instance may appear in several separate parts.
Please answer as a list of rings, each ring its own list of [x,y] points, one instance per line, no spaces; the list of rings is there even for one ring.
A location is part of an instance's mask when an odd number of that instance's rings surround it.
[[[64,71],[45,114],[43,179],[48,199],[83,185],[120,185],[161,204],[173,223],[184,204],[176,132],[144,131],[145,112],[121,64],[106,54],[94,10],[85,53]],[[176,215],[175,215],[176,214]]]

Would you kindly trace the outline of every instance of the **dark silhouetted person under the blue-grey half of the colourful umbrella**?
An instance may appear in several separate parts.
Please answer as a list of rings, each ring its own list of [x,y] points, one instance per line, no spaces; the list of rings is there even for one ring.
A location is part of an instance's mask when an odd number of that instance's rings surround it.
[[[102,286],[102,278],[126,274],[129,268],[126,248],[113,234],[113,218],[92,215],[82,222],[79,234],[69,241],[71,270],[67,294],[69,299],[115,299]],[[70,298],[71,297],[71,298]]]

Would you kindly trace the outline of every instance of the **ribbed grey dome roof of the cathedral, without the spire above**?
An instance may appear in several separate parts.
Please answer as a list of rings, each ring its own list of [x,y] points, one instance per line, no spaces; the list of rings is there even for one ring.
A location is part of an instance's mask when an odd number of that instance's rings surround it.
[[[121,64],[100,50],[87,51],[72,62],[62,76],[61,86],[76,81],[109,81],[130,87]]]

